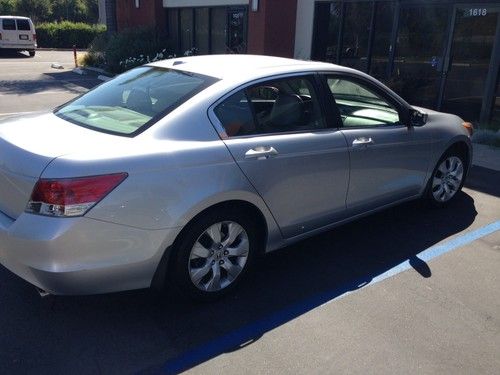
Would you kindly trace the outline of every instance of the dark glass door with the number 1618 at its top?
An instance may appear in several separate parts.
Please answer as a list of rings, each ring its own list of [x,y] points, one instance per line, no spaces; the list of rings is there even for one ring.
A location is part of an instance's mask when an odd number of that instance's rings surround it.
[[[499,13],[497,4],[455,8],[441,111],[479,121],[487,79],[495,79],[488,72]]]

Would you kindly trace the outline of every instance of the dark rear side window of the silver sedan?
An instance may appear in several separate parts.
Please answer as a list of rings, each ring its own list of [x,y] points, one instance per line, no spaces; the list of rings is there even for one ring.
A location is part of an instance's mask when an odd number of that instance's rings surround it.
[[[325,128],[309,77],[268,81],[230,96],[215,108],[229,137]]]

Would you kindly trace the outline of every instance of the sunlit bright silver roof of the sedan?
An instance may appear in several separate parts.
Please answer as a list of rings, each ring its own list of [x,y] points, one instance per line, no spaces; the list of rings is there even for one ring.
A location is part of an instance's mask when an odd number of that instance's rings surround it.
[[[242,78],[242,72],[248,77],[293,73],[297,71],[352,71],[352,69],[349,68],[324,62],[260,55],[203,55],[177,57],[148,65],[204,74],[219,79],[229,79],[238,76]]]

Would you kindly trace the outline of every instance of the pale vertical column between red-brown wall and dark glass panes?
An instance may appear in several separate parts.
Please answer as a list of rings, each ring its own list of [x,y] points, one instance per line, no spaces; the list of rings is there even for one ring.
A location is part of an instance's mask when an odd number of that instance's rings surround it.
[[[314,27],[315,0],[297,0],[294,54],[296,59],[310,59]]]

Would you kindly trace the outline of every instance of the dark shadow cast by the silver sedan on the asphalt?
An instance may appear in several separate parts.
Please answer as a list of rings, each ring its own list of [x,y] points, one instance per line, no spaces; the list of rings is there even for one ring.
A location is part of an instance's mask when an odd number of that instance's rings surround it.
[[[467,229],[476,214],[466,193],[447,209],[411,202],[385,210],[263,257],[235,294],[210,304],[148,290],[41,299],[2,268],[0,371],[175,373],[248,345],[408,259],[431,276],[417,254]]]

